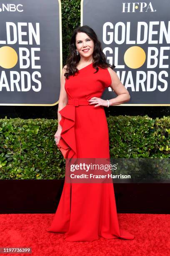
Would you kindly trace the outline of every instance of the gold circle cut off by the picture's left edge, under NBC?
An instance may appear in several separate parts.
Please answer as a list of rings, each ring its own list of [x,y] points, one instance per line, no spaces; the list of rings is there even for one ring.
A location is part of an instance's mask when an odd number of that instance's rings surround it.
[[[10,46],[0,47],[0,66],[4,69],[13,68],[18,61],[16,51]]]

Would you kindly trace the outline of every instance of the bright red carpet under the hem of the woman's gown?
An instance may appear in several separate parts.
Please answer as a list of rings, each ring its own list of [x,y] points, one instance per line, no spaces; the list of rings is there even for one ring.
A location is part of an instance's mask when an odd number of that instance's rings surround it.
[[[35,256],[170,256],[170,215],[118,214],[120,227],[135,235],[92,242],[68,242],[62,234],[49,233],[54,214],[0,215],[0,247],[32,247]]]

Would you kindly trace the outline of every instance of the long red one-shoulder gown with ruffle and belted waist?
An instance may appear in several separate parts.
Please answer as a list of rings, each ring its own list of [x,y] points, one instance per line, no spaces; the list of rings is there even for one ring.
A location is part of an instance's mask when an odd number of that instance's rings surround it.
[[[69,99],[80,101],[101,97],[111,84],[107,69],[92,64],[65,80]],[[110,158],[107,119],[103,106],[67,104],[60,110],[61,137],[70,146],[68,158]],[[88,102],[89,104],[89,102]],[[96,104],[95,104],[96,105]],[[59,205],[48,232],[64,233],[66,241],[103,238],[133,239],[120,229],[113,183],[64,183]]]

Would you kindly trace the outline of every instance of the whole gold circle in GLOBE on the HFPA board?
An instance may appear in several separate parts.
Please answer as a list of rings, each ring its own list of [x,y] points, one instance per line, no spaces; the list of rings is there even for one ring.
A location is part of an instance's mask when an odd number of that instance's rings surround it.
[[[145,51],[139,46],[132,46],[125,51],[125,64],[131,69],[138,69],[146,60]]]

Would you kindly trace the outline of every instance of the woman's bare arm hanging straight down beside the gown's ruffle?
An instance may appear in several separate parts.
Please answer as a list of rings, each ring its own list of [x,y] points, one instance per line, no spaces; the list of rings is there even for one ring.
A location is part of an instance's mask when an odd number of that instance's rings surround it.
[[[59,100],[58,100],[58,110],[57,110],[57,116],[58,116],[58,128],[57,128],[57,131],[55,133],[55,144],[57,145],[60,141],[60,134],[61,134],[61,131],[62,131],[62,127],[60,125],[60,120],[61,120],[61,115],[59,113],[60,110],[62,110],[62,108],[65,107],[65,105],[67,105],[67,101],[68,101],[68,98],[67,98],[67,92],[65,91],[65,71],[66,71],[66,68],[67,66],[65,65],[62,69],[62,74],[61,74],[61,86],[60,86],[60,97],[59,97]]]

